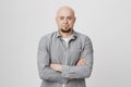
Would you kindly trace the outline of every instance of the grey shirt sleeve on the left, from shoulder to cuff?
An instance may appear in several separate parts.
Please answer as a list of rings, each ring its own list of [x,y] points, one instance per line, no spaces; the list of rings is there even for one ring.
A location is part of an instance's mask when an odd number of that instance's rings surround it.
[[[38,73],[41,79],[46,80],[61,80],[62,75],[59,72],[50,69],[50,58],[48,52],[48,39],[43,37],[38,45],[37,51],[37,64],[38,64]]]

